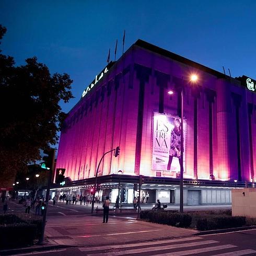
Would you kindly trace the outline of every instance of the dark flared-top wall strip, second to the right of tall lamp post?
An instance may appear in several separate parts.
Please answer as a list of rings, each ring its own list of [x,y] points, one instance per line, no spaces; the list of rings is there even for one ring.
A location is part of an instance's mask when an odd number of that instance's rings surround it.
[[[215,101],[216,92],[205,88],[206,99],[209,103],[209,174],[213,176],[213,103]]]

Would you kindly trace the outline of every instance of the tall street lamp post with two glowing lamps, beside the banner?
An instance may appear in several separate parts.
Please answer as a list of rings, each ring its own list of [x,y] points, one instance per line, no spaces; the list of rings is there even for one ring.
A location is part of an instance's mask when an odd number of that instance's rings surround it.
[[[190,76],[190,82],[196,83],[197,81],[197,75],[192,74]],[[168,91],[169,95],[173,94],[173,91]],[[184,141],[184,135],[183,135],[183,85],[181,85],[181,91],[180,91],[180,98],[181,98],[181,134],[180,134],[180,213],[183,213],[183,141]]]

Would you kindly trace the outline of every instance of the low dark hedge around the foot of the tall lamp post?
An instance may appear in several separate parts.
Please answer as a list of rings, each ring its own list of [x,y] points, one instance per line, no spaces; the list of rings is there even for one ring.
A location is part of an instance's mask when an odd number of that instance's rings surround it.
[[[189,227],[192,221],[189,214],[168,211],[142,211],[141,218],[148,219],[149,222],[175,227]]]

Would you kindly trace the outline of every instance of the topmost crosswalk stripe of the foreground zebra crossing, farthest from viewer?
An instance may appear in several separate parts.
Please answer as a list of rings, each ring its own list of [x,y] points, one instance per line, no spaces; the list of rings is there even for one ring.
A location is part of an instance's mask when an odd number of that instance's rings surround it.
[[[138,247],[138,246],[161,246],[165,243],[173,243],[173,242],[184,242],[184,241],[192,241],[192,240],[198,240],[202,239],[201,237],[186,237],[186,238],[180,238],[180,239],[172,239],[172,240],[164,240],[164,241],[152,241],[152,242],[141,242],[141,243],[126,243],[125,245],[115,245],[115,246],[101,246],[96,248],[79,248],[80,251],[100,251],[100,250],[108,250],[108,249],[117,249],[117,248],[130,248],[130,247]]]

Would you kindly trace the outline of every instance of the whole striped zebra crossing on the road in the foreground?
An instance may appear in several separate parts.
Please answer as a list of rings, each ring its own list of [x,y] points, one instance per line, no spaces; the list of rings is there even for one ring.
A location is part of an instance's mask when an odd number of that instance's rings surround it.
[[[146,253],[146,255],[155,256],[208,255],[206,253],[210,253],[211,256],[256,255],[255,250],[239,249],[236,245],[223,245],[219,241],[205,240],[202,237],[185,237],[124,245],[99,246],[95,248],[81,247],[79,250],[86,253],[87,256],[135,255],[137,253],[139,255]]]

